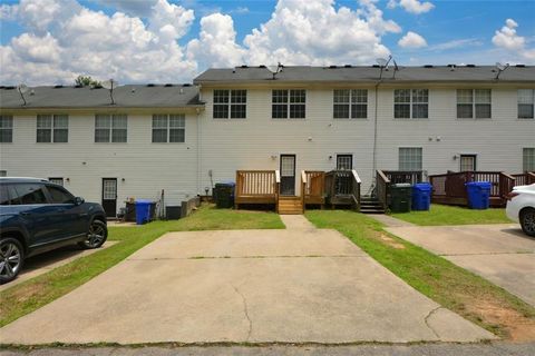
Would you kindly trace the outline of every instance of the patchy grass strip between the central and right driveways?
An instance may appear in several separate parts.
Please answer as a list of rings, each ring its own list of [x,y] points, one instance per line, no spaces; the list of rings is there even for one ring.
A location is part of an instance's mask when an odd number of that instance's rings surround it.
[[[383,225],[352,211],[307,211],[319,228],[346,235],[418,291],[500,337],[535,339],[535,308],[503,288],[445,258],[383,230]]]

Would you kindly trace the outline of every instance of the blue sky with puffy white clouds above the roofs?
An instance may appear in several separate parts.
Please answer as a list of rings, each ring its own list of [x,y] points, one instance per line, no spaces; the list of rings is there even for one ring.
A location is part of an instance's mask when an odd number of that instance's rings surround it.
[[[0,0],[0,83],[208,67],[535,63],[535,0]]]

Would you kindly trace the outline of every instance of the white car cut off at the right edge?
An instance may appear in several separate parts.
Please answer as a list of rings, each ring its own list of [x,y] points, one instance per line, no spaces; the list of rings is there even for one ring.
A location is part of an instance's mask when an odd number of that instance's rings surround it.
[[[535,184],[514,187],[505,211],[509,219],[521,222],[526,235],[535,236]]]

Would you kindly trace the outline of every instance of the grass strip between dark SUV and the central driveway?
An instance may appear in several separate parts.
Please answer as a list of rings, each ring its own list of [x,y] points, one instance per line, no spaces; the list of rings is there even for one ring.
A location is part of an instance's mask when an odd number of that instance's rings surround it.
[[[275,228],[284,228],[284,224],[274,212],[215,209],[213,205],[205,205],[179,220],[110,227],[108,239],[118,244],[1,291],[0,327],[66,295],[165,233]]]

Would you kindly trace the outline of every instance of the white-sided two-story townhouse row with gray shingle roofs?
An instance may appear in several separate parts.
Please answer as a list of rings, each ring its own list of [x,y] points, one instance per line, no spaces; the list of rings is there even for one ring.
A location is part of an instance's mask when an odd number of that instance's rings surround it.
[[[535,169],[535,67],[208,69],[194,86],[0,89],[0,172],[54,178],[113,216],[204,195],[239,169]],[[115,199],[114,199],[115,198]]]

